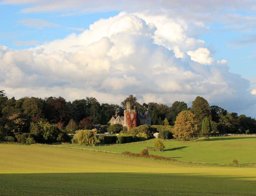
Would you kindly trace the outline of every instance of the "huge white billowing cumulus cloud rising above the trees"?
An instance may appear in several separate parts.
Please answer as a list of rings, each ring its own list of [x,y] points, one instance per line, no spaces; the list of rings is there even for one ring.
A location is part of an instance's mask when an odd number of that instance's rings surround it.
[[[255,108],[249,81],[230,73],[225,60],[213,59],[185,28],[122,12],[38,48],[0,47],[0,85],[16,97],[93,96],[119,104],[135,94],[140,102],[171,104],[199,95],[231,112]],[[246,114],[256,116],[255,110]]]

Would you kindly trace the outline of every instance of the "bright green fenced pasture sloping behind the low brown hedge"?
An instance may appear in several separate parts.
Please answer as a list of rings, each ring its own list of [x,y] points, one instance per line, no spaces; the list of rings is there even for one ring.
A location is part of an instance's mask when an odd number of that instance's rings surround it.
[[[168,140],[164,141],[164,145],[166,148],[163,152],[149,151],[149,154],[193,162],[232,164],[233,159],[237,159],[240,164],[256,163],[256,137],[210,137],[209,139],[199,139],[192,142]],[[154,143],[152,143],[152,140],[149,140],[149,143],[145,141],[144,144],[138,145],[135,142],[134,145],[85,146],[84,148],[111,152],[130,151],[139,153],[143,148],[153,146]],[[73,147],[75,146],[73,145]]]

